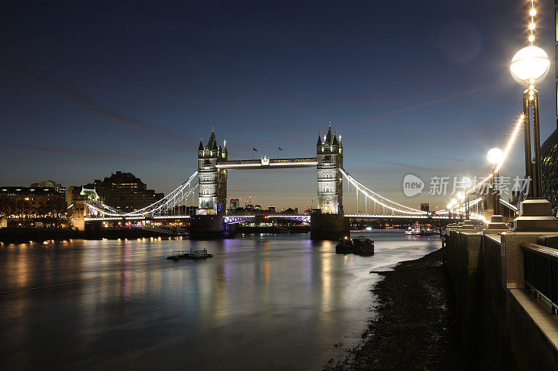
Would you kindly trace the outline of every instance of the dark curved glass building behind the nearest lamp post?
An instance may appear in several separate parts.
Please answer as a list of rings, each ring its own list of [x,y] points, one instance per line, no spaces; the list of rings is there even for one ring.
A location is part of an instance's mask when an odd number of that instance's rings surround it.
[[[541,145],[541,181],[543,197],[554,209],[558,207],[558,161],[556,129]]]

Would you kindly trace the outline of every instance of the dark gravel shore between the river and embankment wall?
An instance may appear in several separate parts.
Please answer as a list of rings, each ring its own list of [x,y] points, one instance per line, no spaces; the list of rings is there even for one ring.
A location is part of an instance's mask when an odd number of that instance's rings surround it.
[[[400,263],[372,293],[373,320],[363,344],[326,370],[470,370],[462,354],[453,292],[442,249]]]

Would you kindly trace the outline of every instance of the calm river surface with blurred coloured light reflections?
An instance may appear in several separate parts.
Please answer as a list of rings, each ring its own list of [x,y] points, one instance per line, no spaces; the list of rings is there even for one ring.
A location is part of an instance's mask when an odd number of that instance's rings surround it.
[[[361,340],[374,315],[378,276],[368,272],[440,246],[437,237],[402,231],[366,234],[375,240],[372,257],[336,255],[333,242],[309,235],[4,244],[0,364],[320,370]],[[215,256],[165,259],[190,247]]]

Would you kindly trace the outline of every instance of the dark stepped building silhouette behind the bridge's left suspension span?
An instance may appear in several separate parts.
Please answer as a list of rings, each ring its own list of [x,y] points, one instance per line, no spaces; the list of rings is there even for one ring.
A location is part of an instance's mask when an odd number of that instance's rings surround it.
[[[156,194],[153,189],[147,189],[139,177],[121,171],[105,177],[105,180],[86,184],[84,188],[94,189],[106,205],[123,212],[142,209],[164,197],[163,194]]]

